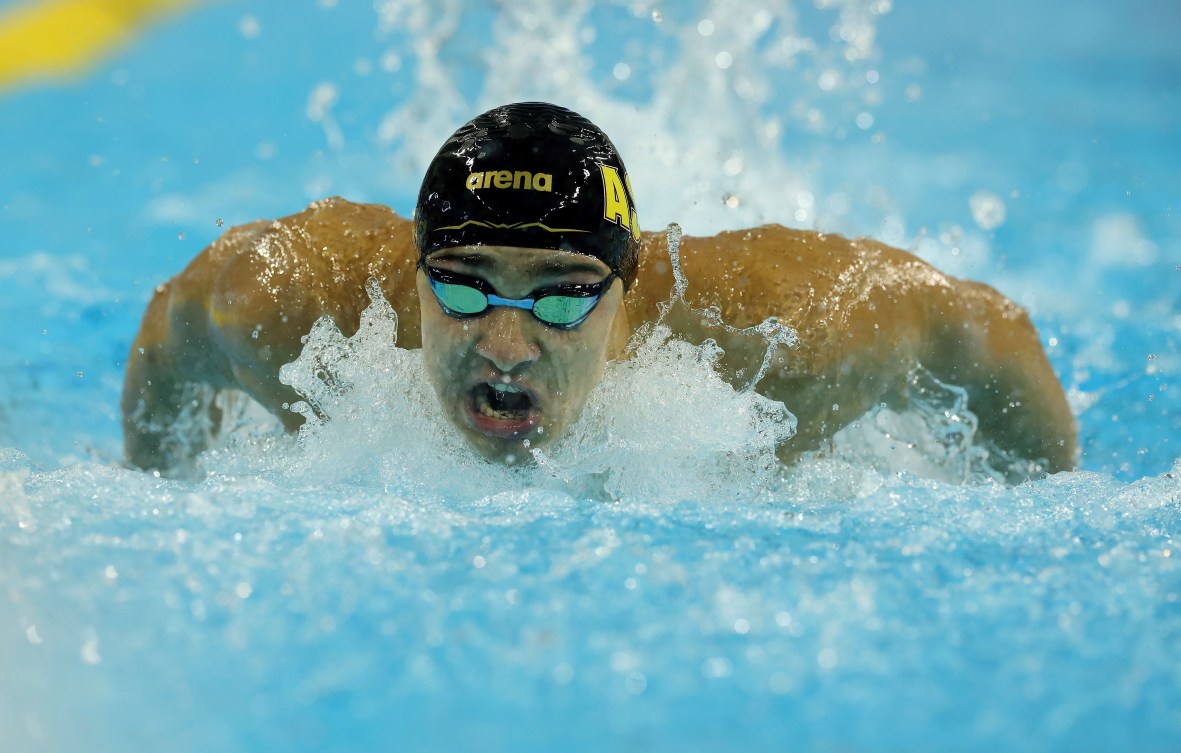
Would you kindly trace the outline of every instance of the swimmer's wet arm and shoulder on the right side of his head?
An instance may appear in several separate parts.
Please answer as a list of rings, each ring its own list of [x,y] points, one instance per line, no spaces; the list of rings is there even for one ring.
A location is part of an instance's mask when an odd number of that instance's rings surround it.
[[[648,235],[645,245],[628,305],[637,322],[654,319],[672,287],[664,238]],[[781,352],[758,385],[798,419],[782,459],[902,394],[922,366],[967,389],[981,439],[1045,459],[1050,471],[1074,467],[1074,417],[1037,332],[992,288],[874,241],[781,225],[686,237],[681,263],[694,307],[716,306],[738,327],[777,316],[797,330],[800,347]],[[739,360],[759,356],[749,339],[722,345]]]

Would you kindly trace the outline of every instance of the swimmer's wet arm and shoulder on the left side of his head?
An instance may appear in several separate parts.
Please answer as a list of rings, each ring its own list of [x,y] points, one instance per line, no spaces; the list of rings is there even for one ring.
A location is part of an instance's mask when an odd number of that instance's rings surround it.
[[[159,287],[132,342],[123,391],[128,460],[161,470],[191,460],[217,428],[220,389],[244,392],[296,428],[304,419],[283,404],[299,395],[279,369],[320,316],[345,335],[357,330],[368,277],[398,313],[398,345],[418,347],[411,230],[387,207],[329,198],[217,238]]]

